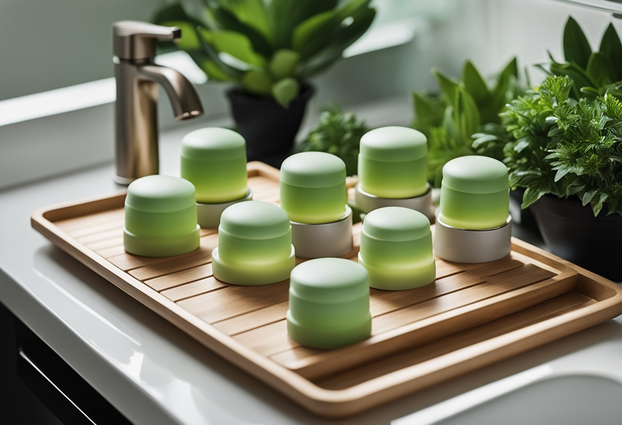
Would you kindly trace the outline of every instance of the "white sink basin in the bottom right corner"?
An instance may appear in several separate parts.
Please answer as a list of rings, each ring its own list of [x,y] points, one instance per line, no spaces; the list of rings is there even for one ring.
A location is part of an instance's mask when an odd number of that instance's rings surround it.
[[[622,371],[622,362],[618,372]],[[393,421],[393,425],[622,424],[622,383],[546,366],[493,382]]]

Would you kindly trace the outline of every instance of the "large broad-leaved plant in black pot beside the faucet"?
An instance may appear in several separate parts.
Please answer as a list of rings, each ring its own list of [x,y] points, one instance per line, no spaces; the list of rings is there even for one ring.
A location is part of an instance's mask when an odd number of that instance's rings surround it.
[[[368,29],[371,0],[194,0],[160,10],[180,27],[179,48],[208,79],[231,81],[231,112],[249,160],[290,152],[309,78],[337,61]]]

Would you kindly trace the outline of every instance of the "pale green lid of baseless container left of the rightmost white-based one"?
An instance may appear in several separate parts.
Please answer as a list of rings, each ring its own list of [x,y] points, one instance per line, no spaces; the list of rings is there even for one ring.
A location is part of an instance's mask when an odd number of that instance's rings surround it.
[[[384,207],[374,209],[365,216],[361,231],[379,240],[416,240],[430,234],[430,221],[414,209]]]

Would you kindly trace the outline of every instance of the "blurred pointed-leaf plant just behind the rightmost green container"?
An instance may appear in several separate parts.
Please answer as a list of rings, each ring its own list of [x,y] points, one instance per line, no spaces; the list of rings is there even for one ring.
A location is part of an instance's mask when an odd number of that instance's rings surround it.
[[[438,96],[422,92],[412,94],[415,111],[412,126],[428,139],[428,176],[430,183],[438,187],[443,165],[453,158],[476,153],[496,158],[502,156],[496,147],[474,149],[472,135],[482,130],[503,134],[498,114],[506,103],[521,93],[521,87],[516,58],[496,75],[492,87],[469,61],[463,66],[461,80],[436,69],[432,73],[441,93]]]

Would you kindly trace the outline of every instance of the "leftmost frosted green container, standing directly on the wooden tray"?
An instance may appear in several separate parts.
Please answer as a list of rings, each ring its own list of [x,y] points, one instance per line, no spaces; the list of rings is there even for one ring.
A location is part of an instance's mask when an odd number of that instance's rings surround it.
[[[125,198],[123,245],[127,252],[146,257],[197,249],[199,227],[192,183],[161,175],[132,181]]]

